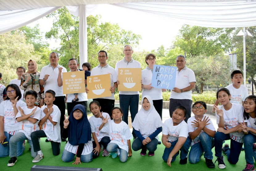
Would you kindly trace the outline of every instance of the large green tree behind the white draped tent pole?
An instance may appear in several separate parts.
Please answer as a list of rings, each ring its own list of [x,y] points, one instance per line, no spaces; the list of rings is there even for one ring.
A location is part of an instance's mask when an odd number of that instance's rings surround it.
[[[61,56],[60,64],[68,68],[68,59],[76,58],[79,60],[79,19],[71,15],[66,7],[62,7],[47,16],[47,18],[50,17],[54,17],[55,20],[52,29],[46,33],[46,38],[61,40],[61,47],[57,48],[56,51]],[[98,65],[97,52],[99,50],[110,52],[110,50],[116,49],[120,45],[137,45],[141,39],[140,35],[129,30],[123,30],[118,24],[100,22],[100,18],[101,16],[98,15],[87,17],[88,62],[92,66]]]

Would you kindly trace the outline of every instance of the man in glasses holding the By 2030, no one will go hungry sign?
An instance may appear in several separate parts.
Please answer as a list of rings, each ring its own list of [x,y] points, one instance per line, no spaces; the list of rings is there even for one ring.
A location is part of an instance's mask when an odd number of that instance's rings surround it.
[[[69,72],[74,72],[74,71],[82,71],[81,69],[78,69],[79,63],[77,59],[71,58],[68,60],[68,67],[70,69]],[[61,72],[61,68],[59,69],[59,72]],[[59,74],[58,77],[58,85],[62,86],[62,77]],[[84,93],[77,93],[78,100],[73,102],[72,100],[75,98],[75,94],[67,94],[66,96],[66,101],[67,101],[67,108],[68,108],[68,116],[70,115],[72,109],[75,107],[75,105],[81,104],[85,106],[85,111],[87,111],[87,94]]]

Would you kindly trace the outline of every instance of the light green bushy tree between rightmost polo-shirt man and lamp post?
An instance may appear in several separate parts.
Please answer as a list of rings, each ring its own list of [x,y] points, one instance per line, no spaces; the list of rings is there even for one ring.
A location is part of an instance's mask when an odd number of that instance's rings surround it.
[[[204,85],[226,86],[230,80],[228,56],[196,56],[186,66],[195,73],[197,93],[203,93]]]

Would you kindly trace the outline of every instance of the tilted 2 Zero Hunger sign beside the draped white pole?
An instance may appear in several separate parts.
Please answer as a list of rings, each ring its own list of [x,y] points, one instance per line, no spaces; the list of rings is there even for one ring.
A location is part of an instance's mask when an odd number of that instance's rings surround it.
[[[110,74],[87,77],[87,89],[89,89],[88,99],[111,96]]]

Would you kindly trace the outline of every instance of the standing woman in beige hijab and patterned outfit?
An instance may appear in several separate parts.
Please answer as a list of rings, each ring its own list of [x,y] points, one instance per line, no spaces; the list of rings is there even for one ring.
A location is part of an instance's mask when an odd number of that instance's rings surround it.
[[[37,72],[37,64],[35,60],[29,60],[27,68],[27,72],[25,72],[21,77],[20,88],[24,90],[24,95],[27,91],[34,90],[37,93],[37,100],[34,105],[42,107],[44,104],[44,88],[39,84],[40,73]],[[23,101],[25,101],[25,96],[23,96]]]

